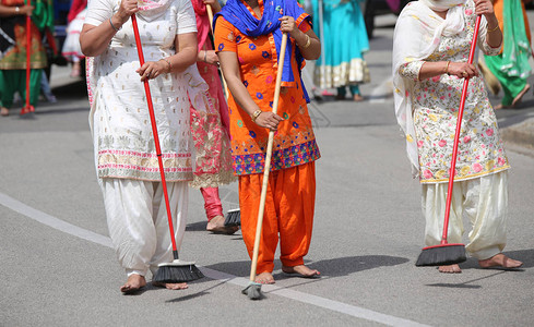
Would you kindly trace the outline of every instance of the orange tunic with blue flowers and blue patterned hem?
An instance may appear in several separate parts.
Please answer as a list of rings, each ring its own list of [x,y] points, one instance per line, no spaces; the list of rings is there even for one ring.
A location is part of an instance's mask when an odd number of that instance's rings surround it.
[[[263,1],[259,0],[260,7]],[[253,13],[252,9],[250,12]],[[301,17],[295,19],[302,32],[311,26]],[[261,110],[272,111],[277,55],[272,35],[251,38],[241,34],[224,17],[218,17],[215,28],[218,51],[237,52],[241,81]],[[295,53],[295,40],[288,43]],[[295,58],[292,58],[295,81],[300,81]],[[300,83],[295,87],[282,84],[277,114],[284,118],[274,134],[271,170],[290,168],[319,159],[319,148]],[[234,97],[228,98],[230,110],[232,156],[236,175],[261,173],[265,162],[269,130],[260,128],[239,108]]]

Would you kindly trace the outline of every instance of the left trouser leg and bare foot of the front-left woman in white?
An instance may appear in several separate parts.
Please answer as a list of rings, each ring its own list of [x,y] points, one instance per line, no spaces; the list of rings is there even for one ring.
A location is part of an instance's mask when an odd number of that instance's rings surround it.
[[[109,237],[128,275],[122,292],[137,291],[146,284],[144,276],[156,247],[152,189],[152,183],[135,180],[102,181]]]

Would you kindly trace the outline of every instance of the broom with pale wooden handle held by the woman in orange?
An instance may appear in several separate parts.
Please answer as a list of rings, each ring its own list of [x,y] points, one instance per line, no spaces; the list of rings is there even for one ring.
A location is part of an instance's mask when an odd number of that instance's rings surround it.
[[[285,48],[287,45],[287,33],[282,34],[280,46],[278,70],[276,72],[276,84],[274,88],[273,113],[278,109],[280,87],[282,85],[282,72],[284,70]],[[273,153],[274,131],[269,131],[269,142],[265,154],[265,167],[263,169],[263,181],[261,185],[260,208],[258,210],[258,225],[256,226],[254,250],[252,252],[252,265],[250,267],[249,284],[241,291],[250,300],[259,300],[261,295],[261,283],[256,282],[256,268],[258,266],[258,254],[260,253],[261,226],[263,223],[263,211],[265,209],[266,189],[269,185],[269,171],[271,170],[271,155]]]

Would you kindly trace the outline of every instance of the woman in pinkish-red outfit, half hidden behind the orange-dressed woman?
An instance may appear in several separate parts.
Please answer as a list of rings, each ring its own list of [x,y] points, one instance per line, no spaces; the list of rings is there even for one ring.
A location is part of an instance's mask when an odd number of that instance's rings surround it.
[[[197,66],[202,78],[210,86],[210,99],[213,111],[203,114],[191,108],[191,133],[195,147],[195,172],[191,186],[199,187],[204,197],[207,217],[206,230],[213,233],[234,234],[239,227],[224,226],[223,205],[218,196],[218,185],[235,181],[232,168],[229,144],[228,106],[224,97],[221,77],[218,76],[218,57],[213,50],[210,38],[210,20],[206,4],[214,12],[221,11],[216,0],[192,0],[197,16],[199,53]]]

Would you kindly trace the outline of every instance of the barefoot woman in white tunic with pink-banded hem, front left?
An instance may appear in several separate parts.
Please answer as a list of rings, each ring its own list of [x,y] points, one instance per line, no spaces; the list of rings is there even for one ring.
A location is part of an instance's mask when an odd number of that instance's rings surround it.
[[[146,59],[142,66],[132,14],[138,17]],[[109,234],[128,275],[120,290],[131,293],[146,284],[149,269],[154,274],[158,264],[171,261],[145,80],[151,86],[178,249],[186,228],[192,179],[188,88],[200,78],[189,69],[197,58],[194,12],[187,0],[139,2],[139,8],[138,0],[92,0],[80,44],[85,56],[95,57],[88,65],[95,161]],[[187,288],[186,283],[154,284]]]

